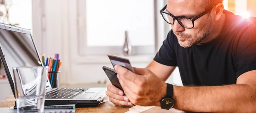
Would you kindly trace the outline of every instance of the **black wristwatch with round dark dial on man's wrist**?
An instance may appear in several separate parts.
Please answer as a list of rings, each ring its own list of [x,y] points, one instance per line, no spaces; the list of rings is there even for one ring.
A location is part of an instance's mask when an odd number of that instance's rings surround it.
[[[166,95],[160,100],[161,108],[169,110],[174,106],[173,85],[167,83]]]

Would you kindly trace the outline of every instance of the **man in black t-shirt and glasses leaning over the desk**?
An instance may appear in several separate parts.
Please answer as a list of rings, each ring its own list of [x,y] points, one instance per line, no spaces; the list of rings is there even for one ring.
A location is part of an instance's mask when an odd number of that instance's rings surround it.
[[[145,69],[134,68],[136,74],[116,65],[124,92],[108,84],[110,101],[256,113],[255,19],[224,10],[222,0],[167,0],[161,14],[172,26],[163,46]],[[177,66],[184,87],[164,82]]]

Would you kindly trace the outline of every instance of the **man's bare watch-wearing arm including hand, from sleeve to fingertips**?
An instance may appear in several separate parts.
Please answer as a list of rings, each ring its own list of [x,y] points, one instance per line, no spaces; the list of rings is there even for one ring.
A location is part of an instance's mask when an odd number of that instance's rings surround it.
[[[134,68],[136,74],[119,65],[117,77],[126,96],[135,105],[160,106],[166,83],[153,72]],[[245,72],[237,84],[212,87],[174,86],[173,99],[178,110],[207,113],[256,113],[256,70]]]

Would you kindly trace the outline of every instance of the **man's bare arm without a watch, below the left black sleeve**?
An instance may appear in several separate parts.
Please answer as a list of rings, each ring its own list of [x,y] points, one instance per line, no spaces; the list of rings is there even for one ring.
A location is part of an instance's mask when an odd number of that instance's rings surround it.
[[[175,68],[176,67],[160,64],[154,60],[151,61],[151,63],[148,64],[148,66],[146,67],[146,69],[153,72],[162,81],[166,81],[169,78],[169,76],[172,74],[172,72],[175,70]]]

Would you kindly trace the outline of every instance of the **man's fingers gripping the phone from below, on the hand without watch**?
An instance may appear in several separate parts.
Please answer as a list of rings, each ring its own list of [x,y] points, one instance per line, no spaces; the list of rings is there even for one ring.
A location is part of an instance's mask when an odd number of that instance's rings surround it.
[[[123,91],[113,86],[111,83],[107,85],[106,95],[109,96],[109,101],[113,102],[117,106],[132,106],[127,96]]]

